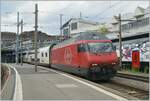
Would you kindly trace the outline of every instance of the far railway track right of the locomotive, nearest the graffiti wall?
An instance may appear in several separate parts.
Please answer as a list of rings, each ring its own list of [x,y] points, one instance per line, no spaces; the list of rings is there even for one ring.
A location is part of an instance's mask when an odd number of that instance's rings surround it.
[[[142,82],[146,82],[146,83],[149,82],[149,77],[144,77],[144,76],[139,76],[139,75],[117,73],[116,76],[121,77],[121,78],[127,78],[127,79],[142,81]]]

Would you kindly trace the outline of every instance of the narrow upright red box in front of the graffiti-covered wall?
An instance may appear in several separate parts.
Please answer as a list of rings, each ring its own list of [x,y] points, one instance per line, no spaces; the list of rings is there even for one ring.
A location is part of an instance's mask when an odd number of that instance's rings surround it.
[[[140,51],[132,51],[132,68],[140,68]]]

